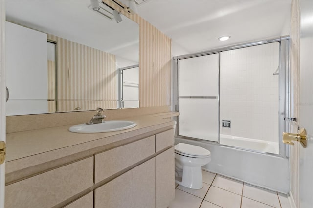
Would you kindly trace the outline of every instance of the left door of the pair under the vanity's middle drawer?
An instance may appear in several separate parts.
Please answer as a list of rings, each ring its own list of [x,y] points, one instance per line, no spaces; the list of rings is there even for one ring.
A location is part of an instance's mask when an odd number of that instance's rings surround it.
[[[95,190],[95,208],[131,208],[132,171]]]

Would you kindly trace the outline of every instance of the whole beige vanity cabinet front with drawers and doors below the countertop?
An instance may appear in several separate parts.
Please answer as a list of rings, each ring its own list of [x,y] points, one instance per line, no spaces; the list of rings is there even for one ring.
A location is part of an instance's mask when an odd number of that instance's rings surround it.
[[[175,194],[174,130],[151,134],[13,181],[5,207],[166,208]]]

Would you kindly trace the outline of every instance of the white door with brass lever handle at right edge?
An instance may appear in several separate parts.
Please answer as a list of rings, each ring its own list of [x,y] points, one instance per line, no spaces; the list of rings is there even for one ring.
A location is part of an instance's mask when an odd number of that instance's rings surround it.
[[[300,1],[300,103],[299,125],[308,134],[300,147],[300,207],[313,208],[313,1]]]

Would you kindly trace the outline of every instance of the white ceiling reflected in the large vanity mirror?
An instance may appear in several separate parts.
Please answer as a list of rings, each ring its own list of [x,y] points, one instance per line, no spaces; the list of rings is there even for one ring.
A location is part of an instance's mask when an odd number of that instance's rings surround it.
[[[90,8],[90,0],[7,0],[5,9],[8,21],[115,54],[126,65],[138,64],[138,24],[125,16],[119,23],[107,19]]]

